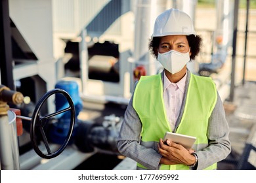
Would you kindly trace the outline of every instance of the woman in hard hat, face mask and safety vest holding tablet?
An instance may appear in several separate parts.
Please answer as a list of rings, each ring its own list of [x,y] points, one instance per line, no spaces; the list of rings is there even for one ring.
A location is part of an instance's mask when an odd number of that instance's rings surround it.
[[[217,169],[230,153],[223,103],[211,78],[186,63],[202,39],[190,17],[171,8],[156,19],[149,49],[164,71],[142,76],[125,111],[117,148],[137,169]],[[196,137],[192,149],[162,138],[166,131]]]

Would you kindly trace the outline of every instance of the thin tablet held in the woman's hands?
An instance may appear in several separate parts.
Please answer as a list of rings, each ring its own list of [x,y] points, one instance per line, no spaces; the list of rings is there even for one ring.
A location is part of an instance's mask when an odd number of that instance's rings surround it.
[[[172,133],[172,132],[169,132],[169,131],[167,131],[165,133],[165,137],[163,137],[163,142],[167,141],[167,139],[169,139],[170,141],[173,141],[177,144],[181,144],[187,150],[192,148],[194,142],[196,142],[196,137],[192,137],[192,136],[188,136],[188,135],[182,135],[182,134],[179,134],[179,133]]]

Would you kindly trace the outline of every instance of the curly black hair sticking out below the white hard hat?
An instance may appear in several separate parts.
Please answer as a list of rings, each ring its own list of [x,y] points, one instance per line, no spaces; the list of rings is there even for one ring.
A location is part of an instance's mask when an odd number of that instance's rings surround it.
[[[158,57],[158,46],[160,44],[160,39],[161,37],[153,37],[149,40],[150,42],[148,44],[148,49],[154,58]],[[195,59],[200,52],[202,46],[202,38],[199,35],[186,35],[186,39],[188,39],[188,44],[190,46],[190,59]]]

